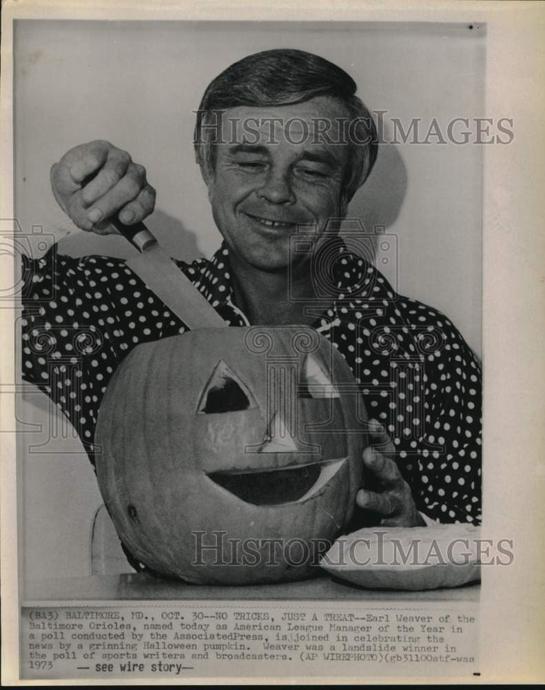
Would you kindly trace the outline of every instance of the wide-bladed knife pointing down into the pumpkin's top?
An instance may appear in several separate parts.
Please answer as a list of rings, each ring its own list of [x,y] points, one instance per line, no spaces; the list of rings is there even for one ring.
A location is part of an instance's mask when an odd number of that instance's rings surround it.
[[[224,328],[227,323],[158,244],[143,224],[124,225],[110,219],[121,235],[140,252],[125,264],[136,273],[170,311],[192,331],[197,328]]]

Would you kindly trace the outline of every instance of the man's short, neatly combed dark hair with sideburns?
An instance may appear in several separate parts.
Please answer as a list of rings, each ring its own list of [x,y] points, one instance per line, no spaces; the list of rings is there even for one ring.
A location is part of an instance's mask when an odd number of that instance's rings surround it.
[[[287,106],[329,96],[345,106],[355,125],[346,140],[350,155],[343,180],[343,192],[350,201],[369,176],[378,153],[376,126],[356,96],[356,88],[345,70],[303,50],[264,50],[233,63],[209,83],[197,111],[194,144],[203,177],[213,175],[215,164],[213,141],[203,129],[209,129],[212,117],[217,126],[218,112],[237,106]]]

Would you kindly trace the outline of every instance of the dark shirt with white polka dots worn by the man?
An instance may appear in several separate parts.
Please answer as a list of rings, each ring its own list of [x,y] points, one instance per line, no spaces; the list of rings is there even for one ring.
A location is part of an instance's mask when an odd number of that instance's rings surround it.
[[[418,509],[479,524],[477,360],[449,319],[396,294],[342,242],[329,257],[336,299],[314,328],[347,360]],[[234,304],[225,245],[209,261],[177,263],[229,325],[248,325]],[[74,259],[53,246],[41,259],[23,257],[23,278],[23,379],[52,398],[94,462],[96,416],[116,366],[139,343],[187,329],[123,259]]]

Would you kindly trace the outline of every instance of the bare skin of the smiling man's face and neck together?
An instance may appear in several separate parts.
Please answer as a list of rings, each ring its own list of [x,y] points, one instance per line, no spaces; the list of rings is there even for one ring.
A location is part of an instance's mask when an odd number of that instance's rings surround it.
[[[214,168],[197,148],[214,220],[231,250],[237,303],[251,323],[313,321],[302,306],[317,299],[309,260],[346,210],[348,147],[328,143],[318,130],[331,123],[328,137],[339,141],[339,105],[318,96],[276,108],[229,108],[212,144]],[[251,135],[248,123],[255,125]],[[295,233],[313,246],[306,261],[296,262]],[[296,302],[287,294],[288,268]]]

